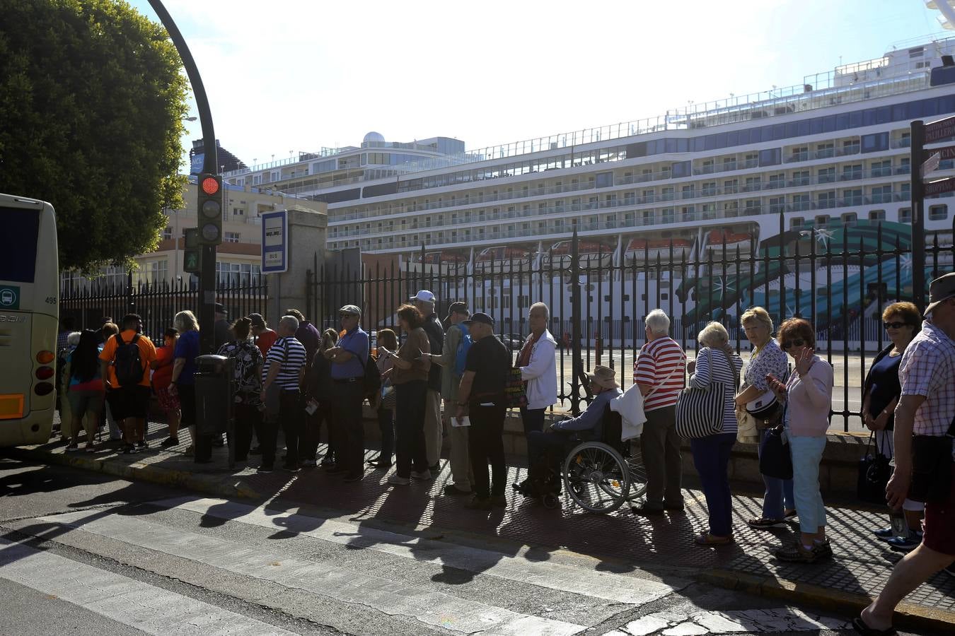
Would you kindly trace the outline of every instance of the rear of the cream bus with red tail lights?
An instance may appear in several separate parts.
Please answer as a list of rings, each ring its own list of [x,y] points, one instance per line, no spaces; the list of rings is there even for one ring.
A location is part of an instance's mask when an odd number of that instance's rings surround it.
[[[59,266],[53,206],[0,195],[0,447],[45,443],[56,404]]]

